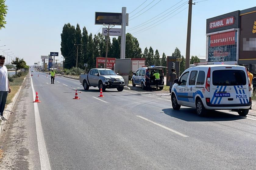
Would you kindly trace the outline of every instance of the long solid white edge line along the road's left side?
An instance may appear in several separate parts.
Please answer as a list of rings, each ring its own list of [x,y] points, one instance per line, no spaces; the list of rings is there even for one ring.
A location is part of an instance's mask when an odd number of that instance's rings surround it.
[[[36,94],[35,94],[35,89],[34,89],[33,80],[31,76],[30,76],[30,79],[31,79],[31,88],[33,92],[33,99],[35,99]],[[38,151],[39,151],[41,170],[51,170],[37,103],[34,103],[34,113],[35,113],[37,145],[38,145]]]

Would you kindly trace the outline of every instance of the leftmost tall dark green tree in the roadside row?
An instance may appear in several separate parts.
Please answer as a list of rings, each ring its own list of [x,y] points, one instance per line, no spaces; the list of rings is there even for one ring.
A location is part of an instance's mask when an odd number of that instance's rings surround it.
[[[72,68],[76,65],[75,26],[70,23],[64,24],[61,33],[61,53],[65,58],[65,68]]]

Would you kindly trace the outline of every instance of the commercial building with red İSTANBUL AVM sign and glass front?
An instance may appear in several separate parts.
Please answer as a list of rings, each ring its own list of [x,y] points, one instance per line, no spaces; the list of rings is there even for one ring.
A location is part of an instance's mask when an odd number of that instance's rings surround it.
[[[256,7],[206,20],[206,62],[243,65],[256,72]]]

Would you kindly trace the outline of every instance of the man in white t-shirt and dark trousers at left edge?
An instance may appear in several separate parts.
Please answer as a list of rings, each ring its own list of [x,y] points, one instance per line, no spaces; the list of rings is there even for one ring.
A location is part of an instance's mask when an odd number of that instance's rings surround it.
[[[9,85],[7,68],[4,66],[5,56],[0,55],[0,114],[2,120],[7,120],[3,116],[3,112],[5,109],[5,103],[7,99],[8,92],[11,92],[11,88]]]

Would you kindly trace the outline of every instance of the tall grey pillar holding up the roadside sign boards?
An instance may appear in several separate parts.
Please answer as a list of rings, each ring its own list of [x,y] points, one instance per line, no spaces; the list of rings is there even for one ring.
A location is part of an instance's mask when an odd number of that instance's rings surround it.
[[[125,58],[126,7],[122,7],[121,59]]]

